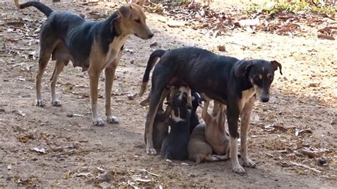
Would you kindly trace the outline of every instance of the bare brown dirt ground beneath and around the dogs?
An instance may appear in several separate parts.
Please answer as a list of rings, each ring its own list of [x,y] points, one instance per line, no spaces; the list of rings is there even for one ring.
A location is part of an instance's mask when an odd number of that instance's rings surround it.
[[[116,9],[102,4],[49,5],[89,18],[105,17]],[[188,26],[171,28],[165,23],[169,18],[147,13],[154,38],[143,41],[131,36],[117,68],[112,111],[120,124],[97,127],[91,121],[87,72],[72,65],[60,74],[57,84],[63,106],[35,106],[38,28],[45,16],[35,9],[17,11],[9,2],[0,3],[0,15],[0,187],[336,187],[335,41],[318,39],[310,32],[278,36],[240,30],[210,38]],[[150,48],[153,41],[158,45]],[[245,175],[232,173],[230,161],[183,166],[146,155],[147,109],[139,105],[141,99],[129,100],[127,95],[139,90],[153,50],[183,45],[282,63],[283,75],[275,73],[270,101],[256,102],[252,113],[249,153],[257,168],[245,168]],[[226,51],[219,52],[218,45],[225,45]],[[53,64],[50,62],[43,77],[46,102],[50,102]],[[102,118],[104,80],[103,74]],[[327,163],[322,166],[320,159]]]

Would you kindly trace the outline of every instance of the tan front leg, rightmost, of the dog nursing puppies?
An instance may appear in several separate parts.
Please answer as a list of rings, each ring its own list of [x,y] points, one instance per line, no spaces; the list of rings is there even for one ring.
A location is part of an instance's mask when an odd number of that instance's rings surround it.
[[[247,134],[250,128],[250,113],[252,112],[252,107],[254,106],[255,97],[251,97],[248,102],[245,103],[245,107],[242,109],[241,113],[241,158],[243,161],[243,166],[255,168],[256,164],[250,160],[247,154]]]

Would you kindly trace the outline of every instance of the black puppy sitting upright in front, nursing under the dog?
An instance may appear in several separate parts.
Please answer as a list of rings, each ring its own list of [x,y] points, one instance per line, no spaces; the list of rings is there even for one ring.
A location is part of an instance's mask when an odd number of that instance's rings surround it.
[[[190,136],[191,90],[189,87],[179,87],[173,97],[171,117],[169,118],[170,132],[161,146],[161,156],[165,160],[185,160],[188,158],[187,145]]]

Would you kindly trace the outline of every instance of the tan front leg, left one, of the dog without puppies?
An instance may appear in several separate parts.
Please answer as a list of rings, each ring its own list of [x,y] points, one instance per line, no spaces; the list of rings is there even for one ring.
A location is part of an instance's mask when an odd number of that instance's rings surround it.
[[[97,98],[98,98],[98,80],[100,79],[100,72],[102,70],[90,69],[88,70],[90,77],[90,99],[91,99],[91,113],[92,113],[92,123],[96,126],[103,126],[104,122],[98,116],[97,110]]]

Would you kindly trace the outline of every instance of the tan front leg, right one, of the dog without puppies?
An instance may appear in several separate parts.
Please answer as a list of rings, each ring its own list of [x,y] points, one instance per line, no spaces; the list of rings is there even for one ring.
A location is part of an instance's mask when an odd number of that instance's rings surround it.
[[[105,68],[105,114],[107,115],[107,122],[109,124],[118,124],[117,117],[112,116],[111,112],[111,92],[114,83],[114,72],[116,72],[118,60],[114,60],[112,65]]]

